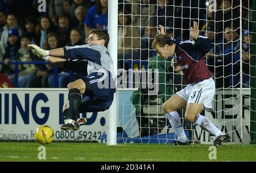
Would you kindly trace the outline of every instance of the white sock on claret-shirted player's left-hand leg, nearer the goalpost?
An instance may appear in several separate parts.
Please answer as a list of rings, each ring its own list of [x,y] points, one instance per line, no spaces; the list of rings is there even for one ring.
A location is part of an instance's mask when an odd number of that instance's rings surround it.
[[[169,112],[169,113],[166,113],[166,117],[169,120],[172,128],[174,128],[174,132],[178,136],[178,141],[180,141],[180,142],[187,141],[188,138],[186,137],[185,131],[181,124],[179,113],[177,113],[176,111]]]

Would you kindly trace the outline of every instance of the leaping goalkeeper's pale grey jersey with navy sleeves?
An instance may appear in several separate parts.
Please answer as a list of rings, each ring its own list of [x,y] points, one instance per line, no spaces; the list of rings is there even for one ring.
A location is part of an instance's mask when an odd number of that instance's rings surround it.
[[[69,58],[71,69],[83,71],[88,74],[103,73],[102,77],[114,78],[114,65],[108,49],[103,45],[86,44],[75,47],[65,47],[64,57]],[[76,63],[71,62],[76,61]],[[67,62],[67,63],[68,63]]]

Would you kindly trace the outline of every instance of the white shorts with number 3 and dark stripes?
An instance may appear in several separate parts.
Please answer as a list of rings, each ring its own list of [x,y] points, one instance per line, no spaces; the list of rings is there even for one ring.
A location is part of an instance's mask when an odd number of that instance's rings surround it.
[[[205,110],[212,111],[212,100],[215,95],[215,82],[212,78],[204,81],[191,83],[176,93],[188,103],[203,103]]]

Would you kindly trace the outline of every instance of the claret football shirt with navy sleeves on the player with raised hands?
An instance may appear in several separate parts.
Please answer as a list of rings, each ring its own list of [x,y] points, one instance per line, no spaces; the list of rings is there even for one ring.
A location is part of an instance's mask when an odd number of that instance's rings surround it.
[[[185,75],[185,83],[200,82],[212,77],[202,58],[210,49],[210,40],[207,37],[199,36],[195,43],[181,41],[181,38],[177,37],[174,59]]]

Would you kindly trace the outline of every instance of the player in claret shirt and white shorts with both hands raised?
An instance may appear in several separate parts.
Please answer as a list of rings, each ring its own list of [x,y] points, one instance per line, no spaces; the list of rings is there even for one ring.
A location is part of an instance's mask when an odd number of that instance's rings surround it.
[[[211,49],[210,40],[207,37],[199,36],[199,29],[196,22],[191,27],[191,38],[193,41],[176,40],[164,35],[164,28],[160,26],[159,35],[155,36],[152,47],[158,56],[167,59],[174,56],[174,60],[185,75],[185,82],[188,84],[183,90],[176,92],[163,104],[164,112],[170,121],[172,128],[178,138],[172,145],[189,145],[191,142],[185,136],[179,109],[186,108],[185,119],[199,125],[210,134],[217,136],[213,146],[219,146],[230,141],[230,136],[221,132],[207,117],[200,115],[205,109],[212,111],[212,100],[215,94],[215,82],[212,73],[202,57]]]

